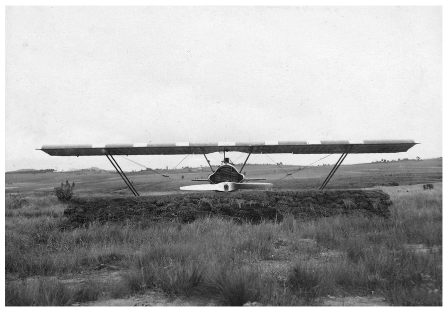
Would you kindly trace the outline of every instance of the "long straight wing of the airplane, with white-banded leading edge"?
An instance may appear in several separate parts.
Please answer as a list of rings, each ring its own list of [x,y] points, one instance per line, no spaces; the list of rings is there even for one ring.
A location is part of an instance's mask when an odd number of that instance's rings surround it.
[[[340,140],[340,141],[275,141],[275,142],[217,142],[173,144],[106,144],[93,145],[44,145],[41,150],[52,156],[93,155],[174,155],[202,154],[216,151],[244,153],[394,153],[407,151],[414,140]]]

